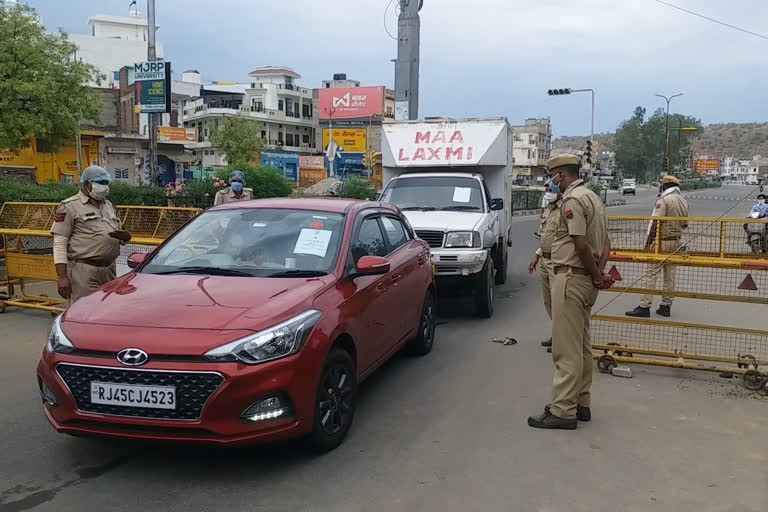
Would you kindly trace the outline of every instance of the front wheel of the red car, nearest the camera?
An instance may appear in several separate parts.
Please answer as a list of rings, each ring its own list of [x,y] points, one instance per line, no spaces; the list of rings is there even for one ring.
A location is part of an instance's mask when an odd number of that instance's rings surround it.
[[[312,433],[307,437],[315,453],[338,447],[347,437],[357,407],[357,376],[349,353],[333,348],[325,360],[315,398]]]

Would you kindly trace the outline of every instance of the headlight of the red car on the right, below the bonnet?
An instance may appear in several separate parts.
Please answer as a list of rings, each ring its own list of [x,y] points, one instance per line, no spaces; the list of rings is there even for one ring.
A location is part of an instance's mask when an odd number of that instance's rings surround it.
[[[234,357],[245,364],[258,364],[295,354],[321,316],[320,311],[310,309],[274,327],[211,349],[205,356],[225,361]]]

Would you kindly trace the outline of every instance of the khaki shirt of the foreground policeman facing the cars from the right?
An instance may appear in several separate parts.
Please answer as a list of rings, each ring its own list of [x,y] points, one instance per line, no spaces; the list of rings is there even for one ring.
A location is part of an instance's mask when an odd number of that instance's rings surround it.
[[[584,268],[572,236],[583,236],[592,248],[595,263],[600,260],[607,238],[605,206],[582,180],[571,183],[559,201],[560,212],[552,242],[552,264]],[[543,238],[543,237],[542,237]]]

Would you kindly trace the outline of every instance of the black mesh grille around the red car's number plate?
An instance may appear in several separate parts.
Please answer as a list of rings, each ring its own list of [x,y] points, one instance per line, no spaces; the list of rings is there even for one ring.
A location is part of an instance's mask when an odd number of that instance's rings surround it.
[[[56,372],[67,384],[77,408],[83,412],[169,420],[196,420],[205,402],[218,388],[224,377],[214,372],[171,372],[159,370],[127,370],[104,366],[61,363]],[[137,384],[143,386],[174,386],[176,409],[125,407],[91,403],[91,382]]]

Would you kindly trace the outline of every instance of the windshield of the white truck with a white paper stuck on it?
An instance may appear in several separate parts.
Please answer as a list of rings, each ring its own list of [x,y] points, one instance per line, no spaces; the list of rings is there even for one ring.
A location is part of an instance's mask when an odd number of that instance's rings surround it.
[[[480,182],[459,176],[419,176],[392,180],[381,200],[401,210],[484,210]]]

